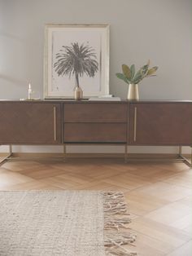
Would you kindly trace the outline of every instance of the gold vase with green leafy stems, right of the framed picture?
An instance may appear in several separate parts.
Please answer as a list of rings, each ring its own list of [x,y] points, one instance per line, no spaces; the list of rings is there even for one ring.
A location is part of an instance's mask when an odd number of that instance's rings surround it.
[[[145,77],[155,77],[155,72],[157,70],[157,66],[150,68],[150,60],[148,60],[147,64],[142,66],[137,72],[135,72],[135,65],[132,64],[129,68],[128,65],[122,65],[123,73],[116,73],[116,77],[120,78],[127,84],[129,84],[128,96],[127,99],[138,100],[138,83],[142,81]]]

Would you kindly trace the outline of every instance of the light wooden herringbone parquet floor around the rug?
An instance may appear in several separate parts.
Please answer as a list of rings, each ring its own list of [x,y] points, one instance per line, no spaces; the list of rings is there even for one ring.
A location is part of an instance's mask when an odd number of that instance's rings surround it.
[[[192,169],[183,163],[124,164],[121,159],[9,161],[0,166],[1,190],[123,191],[140,256],[192,255],[191,178]]]

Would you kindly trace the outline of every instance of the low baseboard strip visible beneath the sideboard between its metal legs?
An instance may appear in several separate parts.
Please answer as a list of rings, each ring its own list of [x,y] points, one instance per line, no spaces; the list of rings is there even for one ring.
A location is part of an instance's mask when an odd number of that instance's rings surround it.
[[[6,157],[7,153],[0,153],[0,157]],[[160,158],[175,158],[177,154],[170,153],[129,153],[129,158],[151,158],[151,159],[160,159]],[[67,158],[124,158],[124,153],[31,153],[31,152],[14,152],[12,157],[22,157],[22,158],[49,158],[49,157],[67,157]],[[190,154],[185,154],[185,157],[190,157]]]

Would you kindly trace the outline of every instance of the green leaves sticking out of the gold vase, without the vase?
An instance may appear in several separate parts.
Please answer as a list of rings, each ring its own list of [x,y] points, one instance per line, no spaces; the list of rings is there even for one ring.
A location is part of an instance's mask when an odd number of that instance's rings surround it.
[[[157,70],[157,66],[150,68],[150,60],[148,60],[147,64],[142,66],[137,73],[135,72],[135,65],[131,65],[130,68],[128,65],[122,65],[123,73],[116,73],[116,76],[123,80],[128,84],[137,84],[141,82],[144,77],[155,77],[155,72]]]

